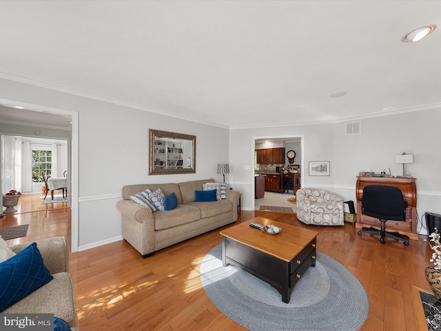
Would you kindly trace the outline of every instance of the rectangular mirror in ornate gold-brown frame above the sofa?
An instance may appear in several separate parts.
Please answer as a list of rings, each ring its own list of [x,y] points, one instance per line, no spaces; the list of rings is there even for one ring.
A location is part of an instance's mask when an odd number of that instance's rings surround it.
[[[196,136],[149,129],[149,174],[194,174]]]

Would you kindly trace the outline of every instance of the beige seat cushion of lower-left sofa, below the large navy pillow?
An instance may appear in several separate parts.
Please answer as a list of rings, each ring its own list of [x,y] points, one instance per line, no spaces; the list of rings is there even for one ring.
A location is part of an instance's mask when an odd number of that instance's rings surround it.
[[[54,316],[72,323],[76,319],[75,297],[72,280],[68,272],[58,272],[52,275],[54,279],[11,305],[2,313],[51,313]]]

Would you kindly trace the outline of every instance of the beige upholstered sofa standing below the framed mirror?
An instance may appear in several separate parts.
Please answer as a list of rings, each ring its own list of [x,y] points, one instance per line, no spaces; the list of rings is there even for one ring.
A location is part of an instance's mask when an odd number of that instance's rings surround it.
[[[195,202],[195,190],[203,190],[203,183],[213,179],[183,183],[126,185],[122,200],[116,203],[121,211],[123,238],[143,257],[175,243],[196,237],[223,225],[234,223],[238,217],[240,194],[227,190],[227,199]],[[152,212],[149,208],[129,200],[131,195],[147,188],[161,188],[167,196],[174,192],[178,205],[173,210]]]

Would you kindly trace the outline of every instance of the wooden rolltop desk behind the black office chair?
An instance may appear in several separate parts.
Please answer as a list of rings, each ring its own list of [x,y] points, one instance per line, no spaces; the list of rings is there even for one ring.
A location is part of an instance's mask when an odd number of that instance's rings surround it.
[[[356,228],[364,226],[372,226],[373,228],[380,228],[381,222],[378,219],[363,215],[361,213],[360,200],[363,196],[363,189],[369,185],[387,185],[399,188],[407,202],[406,221],[387,221],[386,231],[399,232],[404,234],[409,239],[418,240],[418,233],[416,231],[416,178],[410,177],[373,177],[373,176],[358,176],[356,184],[356,199],[357,199],[357,223]]]

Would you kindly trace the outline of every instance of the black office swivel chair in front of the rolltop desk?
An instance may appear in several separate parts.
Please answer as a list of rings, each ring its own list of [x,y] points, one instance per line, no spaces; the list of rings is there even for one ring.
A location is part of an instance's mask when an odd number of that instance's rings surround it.
[[[409,237],[401,236],[398,232],[386,232],[384,223],[391,221],[406,221],[407,202],[402,197],[399,188],[386,185],[369,185],[363,190],[361,199],[361,212],[370,217],[375,217],[381,221],[381,230],[374,228],[362,228],[358,234],[367,232],[370,234],[380,234],[380,242],[385,243],[384,237],[389,237],[403,241],[404,245],[409,245]]]

